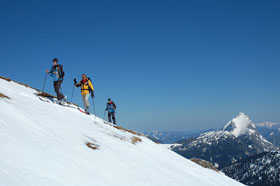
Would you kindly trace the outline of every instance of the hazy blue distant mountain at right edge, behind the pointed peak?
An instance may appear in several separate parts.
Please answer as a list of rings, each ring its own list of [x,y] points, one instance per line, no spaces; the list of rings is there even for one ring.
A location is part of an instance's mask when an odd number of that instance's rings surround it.
[[[261,135],[269,142],[280,147],[280,124],[273,122],[264,122],[256,125]]]

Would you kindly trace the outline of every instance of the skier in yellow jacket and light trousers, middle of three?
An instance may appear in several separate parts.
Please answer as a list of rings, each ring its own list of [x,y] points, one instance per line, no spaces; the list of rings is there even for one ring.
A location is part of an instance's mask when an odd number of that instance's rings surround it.
[[[92,86],[92,82],[85,74],[82,74],[82,80],[77,84],[76,78],[74,79],[75,87],[81,87],[81,94],[84,102],[85,112],[89,115],[89,93],[91,93],[91,97],[94,97],[94,88]]]

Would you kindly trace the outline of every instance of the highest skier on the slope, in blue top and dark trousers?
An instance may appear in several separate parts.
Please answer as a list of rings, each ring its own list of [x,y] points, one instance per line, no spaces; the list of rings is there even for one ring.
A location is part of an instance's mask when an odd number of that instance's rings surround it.
[[[53,85],[54,85],[55,93],[57,95],[58,103],[62,103],[63,101],[66,100],[65,96],[60,92],[61,83],[63,82],[63,78],[64,78],[63,66],[58,65],[57,58],[54,58],[52,62],[53,62],[53,66],[51,68],[51,71],[47,70],[47,73],[53,77]]]

